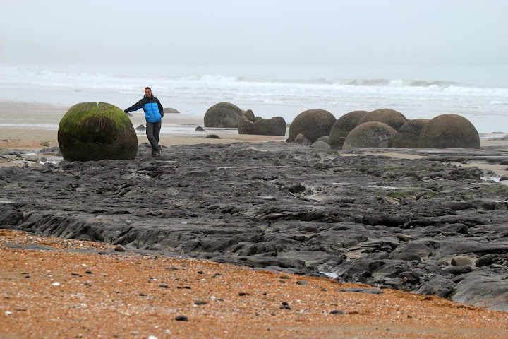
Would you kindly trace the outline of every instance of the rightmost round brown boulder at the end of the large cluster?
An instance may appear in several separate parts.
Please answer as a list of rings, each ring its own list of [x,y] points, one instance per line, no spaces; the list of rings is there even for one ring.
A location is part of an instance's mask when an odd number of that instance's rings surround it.
[[[480,148],[480,136],[468,119],[457,114],[442,114],[425,125],[418,147]]]

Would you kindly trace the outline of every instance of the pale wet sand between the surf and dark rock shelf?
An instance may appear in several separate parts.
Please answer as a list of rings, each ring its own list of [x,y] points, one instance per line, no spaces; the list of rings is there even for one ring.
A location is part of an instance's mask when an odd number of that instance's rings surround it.
[[[46,147],[58,146],[58,128],[47,129],[40,127],[58,126],[61,117],[68,110],[65,105],[50,105],[30,102],[9,102],[0,101],[0,148],[11,148],[21,150],[21,153],[37,153]],[[204,113],[203,113],[204,115]],[[25,123],[29,128],[20,126],[5,126],[13,124],[13,118],[16,117],[16,124]],[[143,113],[134,112],[133,126],[145,125]],[[165,147],[174,145],[198,145],[201,143],[217,144],[217,143],[260,143],[278,141],[284,143],[287,138],[289,129],[286,129],[286,136],[257,136],[248,134],[234,133],[234,129],[206,129],[205,132],[196,132],[197,126],[204,126],[203,117],[195,117],[188,114],[171,114],[167,113],[163,118],[163,130],[159,138],[159,143]],[[164,129],[168,132],[164,133]],[[207,134],[217,134],[220,138],[205,138]],[[138,145],[147,143],[147,138],[143,131],[137,131]],[[492,132],[480,135],[480,146],[489,148],[495,146],[508,147],[507,133]],[[42,143],[49,143],[44,146]],[[355,156],[355,154],[344,154],[343,156]],[[363,153],[363,155],[367,155]],[[380,153],[372,153],[371,155],[380,155]],[[383,153],[395,158],[418,157],[418,155],[408,155],[404,149],[390,148],[388,153]],[[4,160],[4,159],[2,159]],[[0,167],[33,165],[20,160],[1,161]],[[492,165],[485,161],[475,161],[472,164],[456,164],[458,167],[477,166],[485,172],[491,171],[501,177],[508,175],[508,168]],[[502,182],[508,184],[508,181]]]

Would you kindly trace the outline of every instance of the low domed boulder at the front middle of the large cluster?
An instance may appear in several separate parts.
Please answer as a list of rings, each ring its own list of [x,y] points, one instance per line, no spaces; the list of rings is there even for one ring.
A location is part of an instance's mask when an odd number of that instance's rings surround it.
[[[382,122],[365,122],[349,132],[344,145],[342,145],[342,150],[392,147],[395,133],[397,131]]]

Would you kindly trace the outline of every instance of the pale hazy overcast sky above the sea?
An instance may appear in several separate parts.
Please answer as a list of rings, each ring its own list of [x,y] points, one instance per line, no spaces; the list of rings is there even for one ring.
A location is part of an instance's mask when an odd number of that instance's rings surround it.
[[[506,0],[7,1],[0,63],[508,63]]]

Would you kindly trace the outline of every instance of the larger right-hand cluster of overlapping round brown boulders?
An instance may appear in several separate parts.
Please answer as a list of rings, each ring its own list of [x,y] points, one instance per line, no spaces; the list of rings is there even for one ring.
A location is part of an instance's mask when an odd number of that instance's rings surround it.
[[[353,111],[335,119],[324,109],[298,114],[289,126],[287,142],[329,148],[480,148],[478,131],[468,119],[442,114],[433,119],[408,120],[394,109]]]

